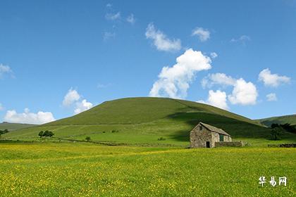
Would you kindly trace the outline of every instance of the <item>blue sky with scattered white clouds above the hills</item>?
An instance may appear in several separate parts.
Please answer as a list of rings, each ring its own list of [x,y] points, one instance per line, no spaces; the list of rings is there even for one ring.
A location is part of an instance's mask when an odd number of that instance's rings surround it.
[[[250,118],[296,113],[296,1],[0,1],[0,9],[0,120],[42,123],[133,96]]]

